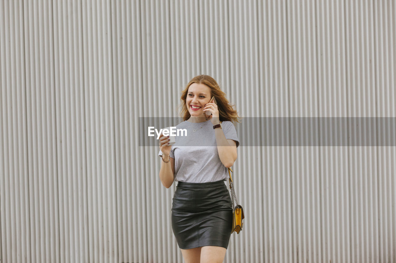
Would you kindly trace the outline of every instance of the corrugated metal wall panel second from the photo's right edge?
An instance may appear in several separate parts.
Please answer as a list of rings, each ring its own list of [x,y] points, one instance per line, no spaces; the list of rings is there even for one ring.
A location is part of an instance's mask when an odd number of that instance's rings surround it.
[[[376,117],[373,3],[347,2],[346,43],[348,78],[348,116]],[[375,137],[376,127],[363,133],[351,123],[348,136],[356,145],[356,136]],[[368,140],[367,140],[368,141]],[[379,258],[377,148],[349,148],[351,261],[371,261]]]

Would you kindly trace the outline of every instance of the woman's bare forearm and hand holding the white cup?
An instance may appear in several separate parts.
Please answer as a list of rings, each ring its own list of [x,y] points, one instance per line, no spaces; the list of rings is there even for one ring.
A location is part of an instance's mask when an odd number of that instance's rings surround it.
[[[164,159],[161,160],[161,169],[160,169],[160,179],[162,182],[162,185],[165,186],[166,188],[171,187],[173,184],[173,181],[175,180],[175,159],[170,158],[170,151],[172,148],[172,145],[167,145],[168,143],[168,137],[164,135],[160,135],[160,150],[163,154],[162,158]],[[170,162],[168,160],[170,159]],[[166,163],[167,162],[167,163]]]

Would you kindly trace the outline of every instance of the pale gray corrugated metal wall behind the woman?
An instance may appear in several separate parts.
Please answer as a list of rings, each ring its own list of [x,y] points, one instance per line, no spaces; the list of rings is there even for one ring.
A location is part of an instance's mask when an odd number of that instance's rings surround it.
[[[0,262],[183,262],[137,117],[177,116],[198,74],[245,117],[396,117],[395,17],[385,0],[1,1]],[[225,262],[396,262],[396,148],[299,139],[238,148]]]

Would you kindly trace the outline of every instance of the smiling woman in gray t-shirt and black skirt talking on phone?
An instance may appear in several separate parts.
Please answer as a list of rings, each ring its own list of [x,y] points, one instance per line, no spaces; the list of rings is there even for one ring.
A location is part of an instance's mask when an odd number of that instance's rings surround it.
[[[210,103],[215,97],[216,103]],[[172,203],[172,230],[185,262],[223,262],[231,235],[232,205],[224,181],[237,157],[237,112],[208,75],[191,79],[181,96],[187,136],[160,136],[162,184],[178,181]],[[209,119],[204,116],[206,112]],[[220,124],[221,122],[221,124]]]

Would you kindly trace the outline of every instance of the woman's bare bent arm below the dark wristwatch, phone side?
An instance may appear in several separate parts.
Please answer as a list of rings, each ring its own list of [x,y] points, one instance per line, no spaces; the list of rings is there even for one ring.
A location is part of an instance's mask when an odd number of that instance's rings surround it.
[[[215,136],[221,163],[227,168],[231,167],[237,157],[236,142],[232,139],[226,139],[221,128],[215,129]]]

